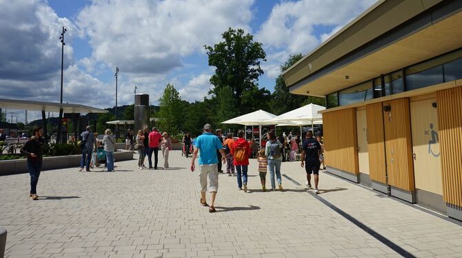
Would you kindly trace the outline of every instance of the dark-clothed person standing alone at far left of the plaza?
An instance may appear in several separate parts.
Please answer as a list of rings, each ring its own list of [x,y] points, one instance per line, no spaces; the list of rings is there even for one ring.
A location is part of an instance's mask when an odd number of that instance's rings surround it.
[[[28,158],[28,170],[30,175],[30,192],[29,197],[32,200],[39,199],[37,196],[37,183],[39,183],[40,172],[42,168],[42,148],[43,148],[43,130],[41,127],[36,127],[32,130],[32,137],[27,141],[21,153]]]

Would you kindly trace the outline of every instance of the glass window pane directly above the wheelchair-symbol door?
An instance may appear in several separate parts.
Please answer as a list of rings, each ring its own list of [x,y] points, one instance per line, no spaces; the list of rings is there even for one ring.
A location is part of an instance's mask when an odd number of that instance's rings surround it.
[[[406,90],[415,90],[426,86],[443,83],[443,66],[415,71],[413,67],[406,70]]]

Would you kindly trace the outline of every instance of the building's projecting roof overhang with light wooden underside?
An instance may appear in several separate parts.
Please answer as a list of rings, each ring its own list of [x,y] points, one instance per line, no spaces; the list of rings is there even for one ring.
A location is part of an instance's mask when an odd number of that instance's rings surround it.
[[[462,1],[440,2],[379,1],[286,70],[286,85],[324,97],[461,48]]]

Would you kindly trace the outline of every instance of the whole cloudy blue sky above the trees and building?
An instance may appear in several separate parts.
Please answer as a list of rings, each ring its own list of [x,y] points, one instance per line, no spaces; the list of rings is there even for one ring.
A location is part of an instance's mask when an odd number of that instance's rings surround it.
[[[114,106],[116,66],[119,105],[133,103],[135,85],[156,104],[167,83],[183,99],[201,100],[214,72],[203,45],[230,27],[263,43],[268,61],[258,83],[272,91],[290,54],[310,52],[374,1],[0,0],[0,90],[7,99],[59,101],[65,26],[68,103]]]

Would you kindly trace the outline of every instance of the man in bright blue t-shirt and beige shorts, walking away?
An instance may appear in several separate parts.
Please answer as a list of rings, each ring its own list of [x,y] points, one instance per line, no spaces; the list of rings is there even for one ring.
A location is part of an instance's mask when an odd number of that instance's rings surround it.
[[[206,124],[203,126],[203,134],[197,137],[196,145],[194,146],[194,153],[191,161],[191,171],[196,169],[194,161],[196,160],[197,153],[199,154],[199,178],[201,182],[201,205],[208,206],[205,201],[205,192],[207,191],[207,176],[209,178],[209,192],[212,199],[209,212],[215,212],[214,203],[218,191],[218,157],[217,150],[221,153],[221,160],[226,162],[225,152],[223,145],[217,136],[212,134],[212,126]]]

